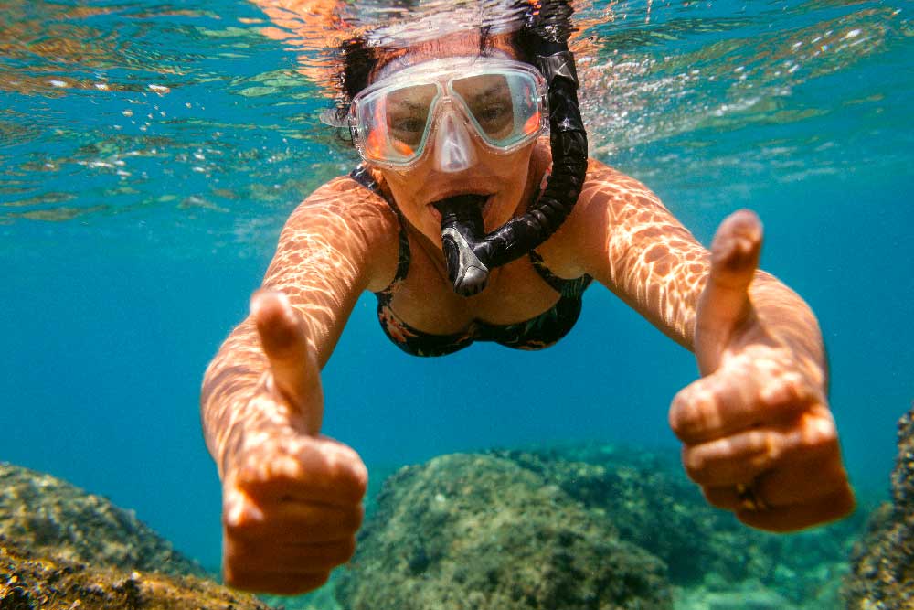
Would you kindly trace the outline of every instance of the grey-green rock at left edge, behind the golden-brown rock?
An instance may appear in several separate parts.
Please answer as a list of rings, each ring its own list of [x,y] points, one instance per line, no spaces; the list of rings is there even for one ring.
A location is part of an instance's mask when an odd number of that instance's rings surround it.
[[[0,463],[0,535],[37,555],[170,574],[207,573],[117,508],[54,476]]]

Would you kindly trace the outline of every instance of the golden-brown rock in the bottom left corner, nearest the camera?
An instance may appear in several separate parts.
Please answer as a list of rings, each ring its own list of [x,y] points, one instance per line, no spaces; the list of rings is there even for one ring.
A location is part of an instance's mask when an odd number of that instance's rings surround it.
[[[0,610],[269,610],[195,576],[94,568],[0,537]]]

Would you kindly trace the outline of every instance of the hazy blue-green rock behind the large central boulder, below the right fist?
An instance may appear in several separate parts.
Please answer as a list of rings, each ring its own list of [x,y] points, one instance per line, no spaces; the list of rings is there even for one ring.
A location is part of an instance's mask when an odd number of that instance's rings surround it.
[[[759,581],[800,604],[842,573],[863,518],[784,536],[707,504],[679,455],[608,444],[501,451],[611,522],[668,566],[672,583]],[[840,563],[841,565],[838,565]],[[825,567],[824,567],[825,566]]]

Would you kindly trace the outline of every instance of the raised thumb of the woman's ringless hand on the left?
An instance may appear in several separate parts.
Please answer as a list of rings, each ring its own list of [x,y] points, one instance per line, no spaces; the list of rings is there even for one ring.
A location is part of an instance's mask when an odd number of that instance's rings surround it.
[[[320,368],[308,345],[308,330],[289,297],[259,290],[250,299],[250,316],[260,346],[270,359],[275,390],[301,415],[308,434],[317,435],[324,415]]]

